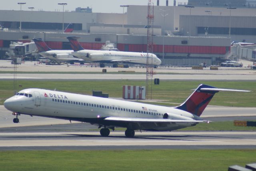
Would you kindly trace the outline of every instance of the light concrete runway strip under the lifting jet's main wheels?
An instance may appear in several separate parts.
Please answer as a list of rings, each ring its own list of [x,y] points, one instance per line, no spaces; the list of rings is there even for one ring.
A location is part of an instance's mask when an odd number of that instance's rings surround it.
[[[137,149],[203,148],[216,146],[225,148],[255,148],[256,132],[251,131],[210,131],[210,132],[136,132],[134,138],[126,138],[124,132],[110,132],[109,137],[101,137],[99,132],[43,132],[43,133],[0,133],[0,150],[22,149],[82,149],[100,147],[100,149]],[[27,148],[28,149],[28,148]]]

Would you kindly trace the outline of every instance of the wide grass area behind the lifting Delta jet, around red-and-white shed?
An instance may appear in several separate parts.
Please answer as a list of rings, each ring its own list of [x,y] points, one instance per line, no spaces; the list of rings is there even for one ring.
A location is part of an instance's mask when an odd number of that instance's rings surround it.
[[[208,84],[219,88],[246,89],[252,92],[220,92],[214,96],[210,105],[256,107],[256,81],[165,81],[160,80],[160,85],[153,85],[152,99],[163,100],[161,103],[167,106],[175,106],[182,103],[199,84]],[[103,81],[45,81],[45,80],[17,80],[18,90],[25,88],[56,89],[72,93],[91,95],[92,90],[109,93],[109,97],[122,97],[122,85],[145,85],[144,81],[136,80],[103,80]],[[4,100],[13,95],[13,81],[0,81],[0,105]]]

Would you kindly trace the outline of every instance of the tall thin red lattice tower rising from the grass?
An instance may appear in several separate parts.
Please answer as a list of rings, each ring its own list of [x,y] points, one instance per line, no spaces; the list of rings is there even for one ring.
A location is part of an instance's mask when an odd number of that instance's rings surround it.
[[[152,99],[152,78],[153,78],[153,24],[154,24],[154,3],[148,0],[148,34],[147,34],[147,65],[146,65],[146,98]],[[150,91],[150,93],[149,93]],[[149,95],[150,94],[150,95]]]

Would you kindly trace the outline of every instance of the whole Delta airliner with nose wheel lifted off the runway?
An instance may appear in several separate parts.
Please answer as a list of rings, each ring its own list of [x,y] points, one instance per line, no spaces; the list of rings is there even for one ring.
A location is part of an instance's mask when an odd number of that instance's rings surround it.
[[[134,137],[134,130],[172,131],[194,126],[203,120],[200,115],[219,91],[245,91],[219,89],[201,84],[177,107],[165,107],[94,97],[47,89],[24,89],[4,101],[4,107],[13,112],[18,123],[20,114],[67,119],[98,125],[100,134],[108,136],[115,127],[125,127],[126,137]]]

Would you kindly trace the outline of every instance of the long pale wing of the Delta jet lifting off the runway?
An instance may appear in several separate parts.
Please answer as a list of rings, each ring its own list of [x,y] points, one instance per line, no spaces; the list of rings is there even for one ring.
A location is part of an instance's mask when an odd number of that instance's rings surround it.
[[[175,119],[147,119],[147,118],[130,118],[130,117],[106,117],[104,120],[107,121],[122,121],[122,122],[130,122],[130,123],[198,123],[198,122],[209,122],[205,120],[175,120]]]

